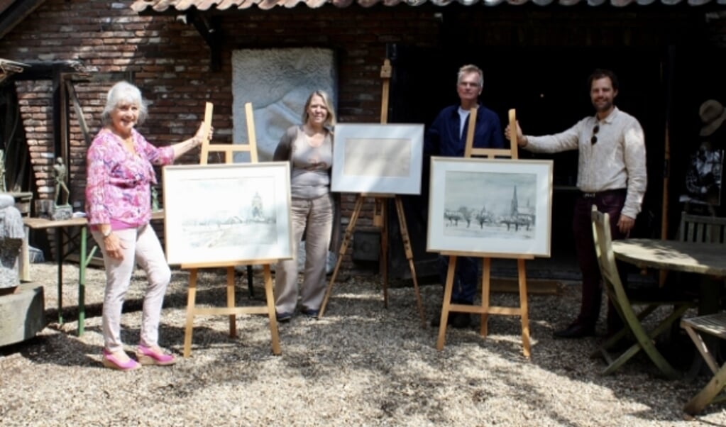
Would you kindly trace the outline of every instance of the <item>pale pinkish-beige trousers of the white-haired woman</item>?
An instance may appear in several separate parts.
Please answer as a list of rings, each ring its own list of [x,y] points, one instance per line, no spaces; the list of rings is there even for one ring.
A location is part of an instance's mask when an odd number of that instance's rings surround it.
[[[171,270],[158,237],[150,225],[114,231],[123,245],[123,259],[107,256],[103,236],[91,232],[101,248],[106,267],[106,290],[103,298],[103,341],[108,351],[123,350],[121,341],[121,309],[123,298],[131,284],[136,264],[146,272],[149,285],[144,296],[142,311],[142,346],[156,346],[159,338],[159,320],[164,293],[171,281]]]

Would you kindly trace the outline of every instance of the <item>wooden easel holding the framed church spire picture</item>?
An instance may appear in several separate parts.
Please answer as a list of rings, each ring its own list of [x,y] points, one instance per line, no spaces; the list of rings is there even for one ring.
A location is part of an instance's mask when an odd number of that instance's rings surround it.
[[[509,110],[510,129],[516,129],[515,110]],[[475,155],[486,158],[509,157],[518,158],[517,144],[511,143],[509,150],[494,148],[474,148],[474,130],[476,126],[476,108],[472,108],[469,113],[469,129],[466,135],[466,147],[464,157],[470,158]],[[476,313],[481,314],[481,336],[486,338],[488,333],[487,323],[489,314],[502,314],[508,316],[520,316],[522,319],[522,346],[524,357],[529,357],[529,309],[527,308],[527,279],[526,267],[524,261],[526,259],[534,259],[534,256],[521,254],[502,254],[502,253],[465,253],[465,252],[442,252],[441,255],[449,256],[449,270],[446,272],[446,285],[444,287],[444,301],[441,304],[441,321],[439,323],[439,340],[436,341],[436,349],[444,349],[444,339],[446,338],[446,323],[449,320],[449,312],[460,313]],[[464,304],[451,304],[452,287],[454,284],[454,271],[456,269],[457,256],[473,256],[482,258],[482,275],[481,275],[481,306],[469,306]],[[516,259],[519,281],[519,307],[492,306],[489,296],[491,293],[491,274],[492,274],[492,258],[499,259]]]

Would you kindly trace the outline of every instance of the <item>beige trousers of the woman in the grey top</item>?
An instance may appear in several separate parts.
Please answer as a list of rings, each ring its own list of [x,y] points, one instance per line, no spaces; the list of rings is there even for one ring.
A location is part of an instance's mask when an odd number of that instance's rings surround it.
[[[293,259],[275,268],[275,310],[278,314],[295,312],[298,302],[298,247],[305,233],[305,271],[300,287],[303,310],[317,310],[325,296],[325,261],[333,229],[333,196],[317,199],[293,198]]]

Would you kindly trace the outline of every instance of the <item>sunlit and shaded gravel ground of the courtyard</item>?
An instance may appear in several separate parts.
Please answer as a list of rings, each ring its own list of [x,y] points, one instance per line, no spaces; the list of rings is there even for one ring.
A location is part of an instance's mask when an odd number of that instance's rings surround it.
[[[237,317],[237,338],[226,316],[195,317],[192,356],[181,357],[188,272],[174,271],[160,327],[161,345],[179,362],[128,373],[100,364],[103,272],[89,269],[86,333],[76,336],[78,269],[68,264],[65,318],[57,320],[54,264],[33,264],[44,283],[46,320],[37,338],[0,349],[2,426],[694,426],[726,425],[726,406],[712,405],[696,420],[682,406],[703,386],[666,381],[645,357],[615,375],[590,352],[602,338],[552,340],[579,307],[576,285],[560,295],[529,298],[532,356],[521,352],[517,317],[492,317],[486,339],[478,326],[449,328],[436,351],[436,328],[421,328],[412,288],[392,288],[388,309],[377,277],[340,277],[321,320],[294,317],[280,325],[282,355],[270,346],[269,322]],[[238,305],[255,301],[238,277]],[[123,339],[134,351],[144,291],[134,276],[123,314]],[[428,317],[442,288],[423,285]],[[197,301],[224,304],[224,275],[200,274]],[[517,296],[496,294],[494,304]],[[690,350],[688,338],[671,347]],[[688,367],[690,351],[674,357]]]

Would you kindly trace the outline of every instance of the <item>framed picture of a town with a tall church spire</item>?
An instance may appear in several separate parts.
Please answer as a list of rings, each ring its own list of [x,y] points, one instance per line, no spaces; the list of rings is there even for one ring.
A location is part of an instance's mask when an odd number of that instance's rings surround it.
[[[427,251],[550,256],[552,160],[432,157],[430,186]]]

